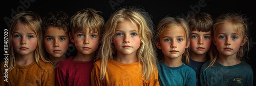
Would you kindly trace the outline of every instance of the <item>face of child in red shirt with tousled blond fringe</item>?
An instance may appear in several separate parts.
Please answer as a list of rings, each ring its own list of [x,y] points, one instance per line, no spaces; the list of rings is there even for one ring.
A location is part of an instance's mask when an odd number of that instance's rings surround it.
[[[98,49],[100,41],[98,33],[93,33],[86,29],[85,32],[77,32],[71,36],[71,41],[75,44],[77,54],[92,55]]]

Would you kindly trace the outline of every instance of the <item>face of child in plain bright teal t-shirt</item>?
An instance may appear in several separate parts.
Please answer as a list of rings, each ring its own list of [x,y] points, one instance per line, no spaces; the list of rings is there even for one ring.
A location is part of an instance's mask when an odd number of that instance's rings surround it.
[[[160,35],[160,44],[157,48],[161,49],[164,58],[182,58],[185,49],[188,48],[185,30],[179,26],[169,27]]]

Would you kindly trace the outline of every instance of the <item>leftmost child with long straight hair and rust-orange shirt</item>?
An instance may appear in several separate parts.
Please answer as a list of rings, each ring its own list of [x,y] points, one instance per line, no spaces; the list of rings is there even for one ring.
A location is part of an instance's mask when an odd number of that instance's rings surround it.
[[[32,11],[20,12],[13,17],[8,33],[8,65],[1,63],[0,85],[54,85],[55,69],[42,48],[41,17]]]

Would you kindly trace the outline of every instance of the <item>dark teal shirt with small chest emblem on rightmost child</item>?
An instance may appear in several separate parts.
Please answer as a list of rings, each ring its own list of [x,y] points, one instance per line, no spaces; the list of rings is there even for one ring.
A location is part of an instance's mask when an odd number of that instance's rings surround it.
[[[206,69],[209,64],[210,61],[206,61],[200,70],[201,85],[253,85],[252,68],[244,61],[234,66],[215,62],[213,67]]]

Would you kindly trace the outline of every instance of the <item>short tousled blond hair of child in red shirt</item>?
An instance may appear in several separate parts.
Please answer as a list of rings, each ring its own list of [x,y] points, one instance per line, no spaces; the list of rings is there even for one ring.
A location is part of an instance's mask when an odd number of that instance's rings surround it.
[[[101,11],[92,8],[79,10],[70,19],[70,32],[74,36],[77,32],[89,29],[94,33],[101,34],[104,27],[104,18],[100,15]]]

